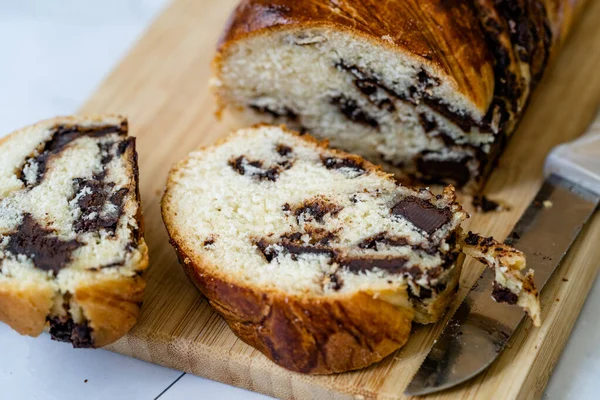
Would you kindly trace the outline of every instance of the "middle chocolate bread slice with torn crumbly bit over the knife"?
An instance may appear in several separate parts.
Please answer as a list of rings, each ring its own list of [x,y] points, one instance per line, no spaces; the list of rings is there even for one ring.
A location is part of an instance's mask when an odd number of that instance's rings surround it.
[[[401,347],[412,321],[439,320],[454,298],[461,247],[484,257],[501,246],[463,235],[468,215],[452,187],[415,191],[361,157],[269,126],[178,163],[162,213],[186,273],[231,329],[315,374]],[[523,255],[502,250],[485,253],[490,266],[518,272]],[[537,292],[517,272],[497,282],[517,300],[496,298],[528,306],[539,323]]]

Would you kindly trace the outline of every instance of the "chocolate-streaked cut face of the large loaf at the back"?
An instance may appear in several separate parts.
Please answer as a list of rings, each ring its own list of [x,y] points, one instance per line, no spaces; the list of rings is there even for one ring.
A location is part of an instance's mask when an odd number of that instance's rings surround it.
[[[426,61],[328,28],[253,35],[226,46],[212,81],[245,124],[278,122],[396,174],[464,186],[495,141],[481,110]]]

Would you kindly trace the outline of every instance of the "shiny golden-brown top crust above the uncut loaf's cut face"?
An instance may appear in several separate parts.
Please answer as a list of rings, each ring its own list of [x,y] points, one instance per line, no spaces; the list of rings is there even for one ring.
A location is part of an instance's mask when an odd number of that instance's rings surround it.
[[[493,58],[479,19],[461,0],[242,0],[219,41],[219,52],[274,29],[330,27],[420,57],[454,82],[482,113],[494,90]],[[444,29],[440,29],[443,27]],[[215,66],[219,64],[219,55]]]

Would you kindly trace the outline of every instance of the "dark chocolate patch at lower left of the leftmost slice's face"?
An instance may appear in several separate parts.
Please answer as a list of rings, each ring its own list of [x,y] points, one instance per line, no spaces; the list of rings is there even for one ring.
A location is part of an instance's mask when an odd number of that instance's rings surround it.
[[[26,256],[36,268],[57,274],[82,244],[77,240],[62,240],[53,234],[53,231],[39,225],[31,214],[24,214],[17,231],[8,235],[4,250],[15,256]]]

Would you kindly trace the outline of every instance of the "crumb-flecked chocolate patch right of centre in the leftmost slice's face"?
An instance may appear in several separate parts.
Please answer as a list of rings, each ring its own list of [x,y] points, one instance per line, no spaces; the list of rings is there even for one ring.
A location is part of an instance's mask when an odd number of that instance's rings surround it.
[[[127,188],[114,190],[113,182],[104,182],[105,174],[94,175],[91,179],[76,178],[73,180],[73,198],[81,210],[79,218],[73,222],[76,232],[96,232],[105,229],[114,233],[117,224],[123,215],[125,196],[129,193]],[[114,206],[113,210],[105,210],[108,205]]]

